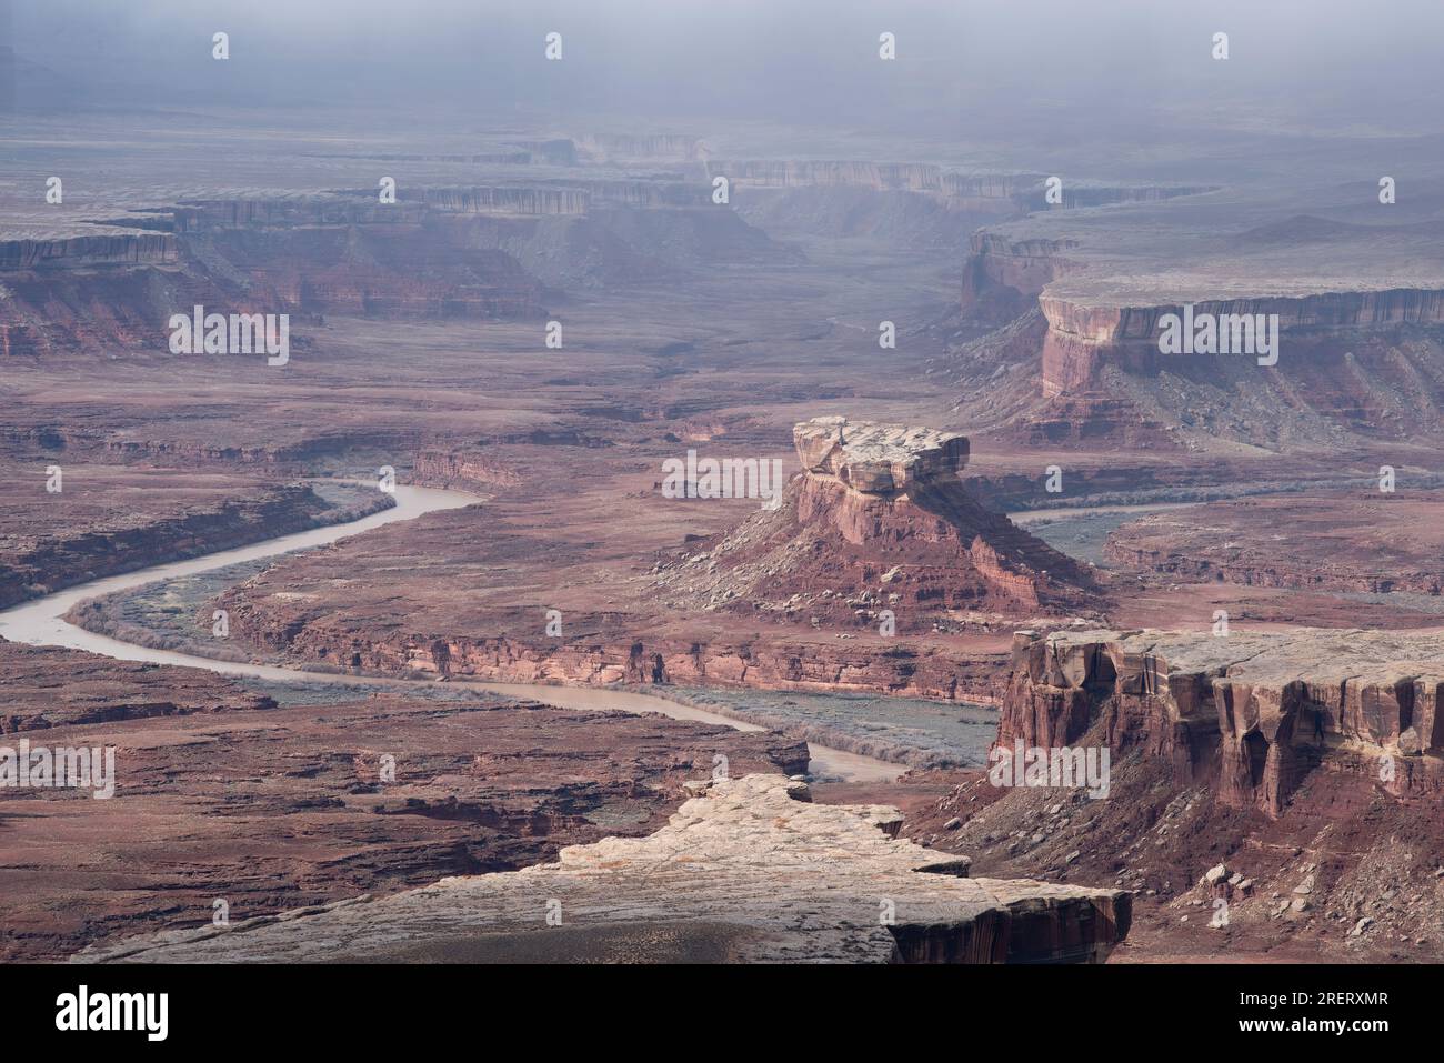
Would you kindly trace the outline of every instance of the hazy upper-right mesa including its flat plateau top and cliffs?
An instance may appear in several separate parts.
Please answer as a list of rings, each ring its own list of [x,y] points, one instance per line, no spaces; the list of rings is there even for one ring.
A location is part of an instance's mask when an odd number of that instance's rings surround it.
[[[1047,322],[1031,381],[1053,404],[1043,419],[1126,442],[1123,403],[1135,422],[1178,425],[1194,448],[1331,445],[1340,429],[1408,438],[1444,422],[1438,221],[1382,224],[1352,198],[1331,212],[1369,224],[1226,196],[1187,209],[1119,202],[1129,205],[1040,209],[972,235],[963,319],[999,326],[1037,308]],[[1164,319],[1186,308],[1187,321],[1217,319],[1220,352],[1193,352],[1191,337],[1184,354],[1161,350]],[[1268,344],[1253,341],[1259,315],[1276,315]]]

